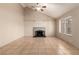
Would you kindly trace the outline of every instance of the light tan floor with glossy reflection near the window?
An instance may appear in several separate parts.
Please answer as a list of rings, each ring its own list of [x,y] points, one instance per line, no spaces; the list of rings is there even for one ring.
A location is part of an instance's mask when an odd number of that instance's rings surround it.
[[[78,55],[79,49],[55,38],[24,37],[0,48],[0,55]]]

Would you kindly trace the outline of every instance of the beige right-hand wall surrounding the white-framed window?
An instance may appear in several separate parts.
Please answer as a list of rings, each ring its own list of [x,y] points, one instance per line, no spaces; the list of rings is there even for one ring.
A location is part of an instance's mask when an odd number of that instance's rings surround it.
[[[58,21],[61,18],[66,16],[72,16],[72,36],[64,35],[58,32],[59,24]],[[56,21],[57,25],[57,32],[56,35],[59,38],[66,40],[67,42],[71,43],[75,47],[79,48],[79,7],[77,6],[75,9],[69,11],[68,13],[64,14],[59,20]]]

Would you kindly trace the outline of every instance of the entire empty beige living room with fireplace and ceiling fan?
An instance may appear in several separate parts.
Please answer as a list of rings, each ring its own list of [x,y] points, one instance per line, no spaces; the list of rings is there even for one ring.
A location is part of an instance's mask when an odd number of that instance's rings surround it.
[[[0,3],[0,55],[79,55],[79,3]]]

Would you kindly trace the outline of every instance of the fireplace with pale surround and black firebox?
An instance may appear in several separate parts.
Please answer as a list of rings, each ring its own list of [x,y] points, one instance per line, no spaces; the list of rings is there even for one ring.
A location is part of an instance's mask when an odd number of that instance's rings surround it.
[[[46,37],[44,27],[34,27],[33,37]]]

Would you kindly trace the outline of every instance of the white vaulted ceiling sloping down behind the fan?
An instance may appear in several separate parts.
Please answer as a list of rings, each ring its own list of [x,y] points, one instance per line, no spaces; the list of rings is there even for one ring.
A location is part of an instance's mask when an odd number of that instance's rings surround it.
[[[42,3],[43,4],[43,3]],[[47,7],[42,11],[42,13],[51,16],[53,18],[59,18],[62,16],[64,13],[72,10],[79,4],[67,4],[67,3],[45,3]],[[32,6],[35,6],[36,3],[21,3],[21,5],[26,8],[32,8]],[[41,11],[39,11],[41,12]]]

